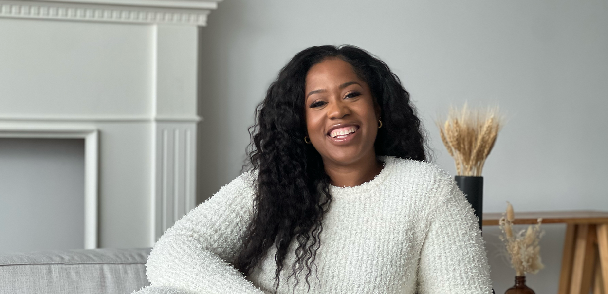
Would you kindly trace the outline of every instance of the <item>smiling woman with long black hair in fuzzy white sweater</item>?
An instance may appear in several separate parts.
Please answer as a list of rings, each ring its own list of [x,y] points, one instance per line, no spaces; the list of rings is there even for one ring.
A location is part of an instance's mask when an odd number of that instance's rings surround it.
[[[491,293],[471,206],[389,67],[310,47],[258,106],[252,169],[182,217],[138,293]]]

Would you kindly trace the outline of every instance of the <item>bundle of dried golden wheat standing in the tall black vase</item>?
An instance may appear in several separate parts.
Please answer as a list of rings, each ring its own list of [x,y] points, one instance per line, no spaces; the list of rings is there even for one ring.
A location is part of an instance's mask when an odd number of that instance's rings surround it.
[[[437,121],[441,141],[456,163],[458,176],[481,176],[483,164],[494,147],[503,119],[499,108],[471,111],[450,108],[445,123]]]

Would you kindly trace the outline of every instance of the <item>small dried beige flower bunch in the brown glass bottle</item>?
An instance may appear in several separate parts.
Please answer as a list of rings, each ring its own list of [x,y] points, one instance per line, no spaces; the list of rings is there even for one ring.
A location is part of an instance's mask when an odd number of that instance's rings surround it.
[[[513,206],[506,202],[506,217],[500,218],[500,240],[505,243],[506,251],[511,257],[511,266],[516,272],[516,276],[523,276],[525,273],[537,273],[545,266],[541,262],[541,247],[539,241],[544,234],[541,231],[542,219],[538,219],[538,224],[531,225],[527,230],[513,233]]]

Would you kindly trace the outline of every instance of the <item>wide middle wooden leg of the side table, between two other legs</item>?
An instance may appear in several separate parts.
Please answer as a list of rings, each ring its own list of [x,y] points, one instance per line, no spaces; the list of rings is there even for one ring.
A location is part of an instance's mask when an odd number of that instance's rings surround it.
[[[570,294],[588,294],[595,266],[595,225],[578,225]]]

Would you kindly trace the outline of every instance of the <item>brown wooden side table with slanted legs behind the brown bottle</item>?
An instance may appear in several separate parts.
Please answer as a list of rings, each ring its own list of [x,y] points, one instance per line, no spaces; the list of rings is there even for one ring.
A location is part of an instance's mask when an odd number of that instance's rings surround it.
[[[502,213],[484,213],[483,225],[499,225]],[[608,212],[515,213],[515,225],[566,224],[559,294],[608,294]],[[598,254],[599,253],[599,254]]]

